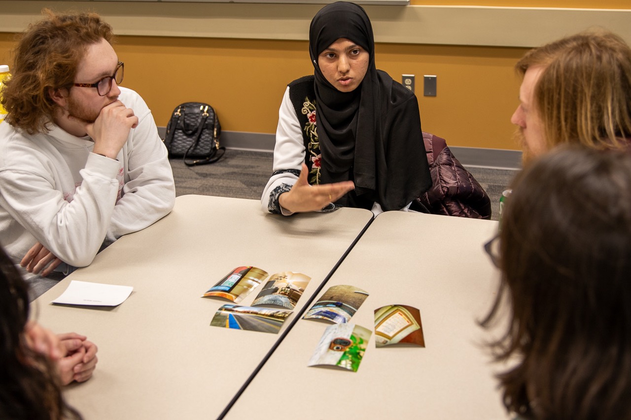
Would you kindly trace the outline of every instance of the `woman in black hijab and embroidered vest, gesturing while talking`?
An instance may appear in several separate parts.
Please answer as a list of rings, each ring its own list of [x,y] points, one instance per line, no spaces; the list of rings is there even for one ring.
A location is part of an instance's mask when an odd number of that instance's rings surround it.
[[[315,71],[285,91],[266,211],[408,209],[432,184],[416,96],[375,68],[374,47],[357,4],[329,4],[314,16]]]

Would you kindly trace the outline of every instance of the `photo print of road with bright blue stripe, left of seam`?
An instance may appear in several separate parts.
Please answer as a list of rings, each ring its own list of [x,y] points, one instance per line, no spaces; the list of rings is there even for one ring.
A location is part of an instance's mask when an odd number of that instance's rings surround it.
[[[223,305],[215,312],[210,325],[237,330],[278,334],[292,311],[252,306]]]

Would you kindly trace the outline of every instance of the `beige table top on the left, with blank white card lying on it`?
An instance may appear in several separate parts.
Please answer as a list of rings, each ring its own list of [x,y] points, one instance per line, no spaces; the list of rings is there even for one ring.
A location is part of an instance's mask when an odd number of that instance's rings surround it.
[[[177,197],[168,216],[123,236],[35,301],[42,325],[98,345],[93,378],[69,387],[69,402],[86,419],[219,416],[280,334],[211,327],[231,302],[200,296],[236,267],[254,265],[312,277],[299,310],[371,218],[362,209],[285,218],[263,214],[254,200]],[[50,305],[71,280],[134,291],[109,310]]]

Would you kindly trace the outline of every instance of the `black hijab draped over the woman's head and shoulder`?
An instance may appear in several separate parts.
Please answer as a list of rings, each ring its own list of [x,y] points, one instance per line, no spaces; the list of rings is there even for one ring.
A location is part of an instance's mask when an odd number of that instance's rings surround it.
[[[351,92],[341,92],[324,77],[318,65],[318,56],[339,38],[346,38],[365,49],[370,57],[362,83]],[[316,98],[317,134],[322,154],[321,180],[323,184],[353,180],[355,192],[350,198],[343,197],[339,204],[353,205],[360,201],[377,201],[384,210],[396,210],[406,206],[430,185],[427,170],[427,157],[418,115],[412,111],[394,120],[406,124],[411,119],[415,134],[415,145],[408,150],[408,139],[389,139],[388,127],[393,122],[391,99],[401,96],[392,94],[392,78],[375,67],[375,41],[370,20],[364,9],[357,4],[337,2],[324,6],[313,18],[309,28],[309,54],[314,65],[314,89]],[[410,98],[413,94],[404,92]],[[397,98],[401,99],[401,98]],[[400,107],[399,107],[400,108]],[[407,137],[407,136],[406,136]],[[420,140],[419,140],[420,139]],[[410,139],[411,141],[414,140]],[[399,142],[392,149],[388,141]],[[420,141],[420,145],[418,142]],[[419,154],[418,146],[422,152]],[[397,150],[399,149],[399,150]],[[404,160],[404,161],[401,161]],[[419,162],[419,160],[422,160]],[[392,173],[398,166],[403,170],[413,170],[424,165],[422,182],[401,182],[401,174]],[[390,168],[390,169],[389,169]],[[427,172],[427,173],[426,173]],[[410,185],[407,185],[410,184]],[[421,185],[422,184],[422,185]]]

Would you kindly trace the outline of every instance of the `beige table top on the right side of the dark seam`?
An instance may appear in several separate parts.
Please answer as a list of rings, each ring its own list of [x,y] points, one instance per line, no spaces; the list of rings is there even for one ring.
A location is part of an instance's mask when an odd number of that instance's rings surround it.
[[[329,323],[298,320],[227,419],[502,419],[476,319],[496,294],[483,250],[497,222],[382,213],[326,283],[370,293],[351,322],[373,331],[356,373],[308,367]],[[318,297],[318,296],[316,296]],[[421,313],[425,348],[375,348],[374,310]]]

